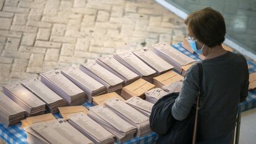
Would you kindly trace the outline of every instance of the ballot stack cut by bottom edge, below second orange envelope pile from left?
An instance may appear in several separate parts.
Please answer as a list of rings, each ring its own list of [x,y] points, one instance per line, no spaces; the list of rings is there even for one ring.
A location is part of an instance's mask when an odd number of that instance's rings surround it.
[[[93,121],[83,113],[72,114],[69,116],[69,124],[71,124],[79,132],[83,133],[87,138],[96,144],[114,143],[114,135],[100,124]]]

